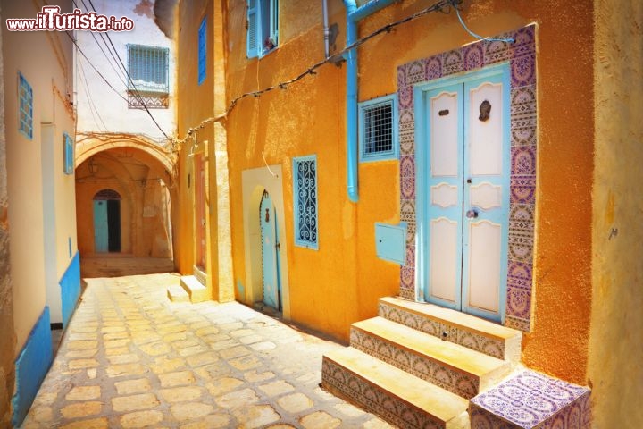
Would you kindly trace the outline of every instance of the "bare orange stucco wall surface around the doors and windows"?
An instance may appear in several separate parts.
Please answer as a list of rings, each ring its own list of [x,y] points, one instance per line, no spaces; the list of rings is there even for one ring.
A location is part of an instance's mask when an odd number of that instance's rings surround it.
[[[388,6],[360,24],[360,35],[426,6],[419,1]],[[339,0],[330,0],[329,8],[330,24],[338,24],[336,45],[341,48],[345,9]],[[590,1],[567,4],[565,13],[555,2],[463,4],[464,20],[484,35],[532,22],[538,25],[534,297],[531,332],[525,335],[522,358],[529,366],[576,383],[586,383],[591,304],[592,13]],[[181,15],[181,31],[196,34],[200,21],[196,14]],[[224,21],[228,103],[243,93],[291,79],[323,57],[321,4],[280,2],[280,46],[260,59],[246,58],[246,2],[230,0]],[[359,100],[396,92],[397,66],[470,42],[454,13],[429,14],[373,38],[359,49]],[[203,94],[194,83],[194,46],[194,41],[180,41],[180,63],[186,64],[179,73],[180,88],[184,94],[199,95],[198,103],[194,97],[180,97],[181,136],[212,114],[205,107],[210,94]],[[286,89],[240,100],[221,123],[230,157],[235,282],[242,286],[247,282],[242,172],[280,165],[287,230],[286,243],[281,245],[288,256],[288,265],[282,269],[288,270],[289,316],[346,340],[350,323],[375,315],[377,299],[396,294],[399,288],[399,267],[375,257],[373,231],[375,222],[399,220],[399,165],[360,164],[360,201],[350,203],[345,115],[346,66],[327,64]],[[199,131],[199,139],[208,130],[212,128]],[[182,181],[188,168],[186,152],[180,158]],[[293,240],[292,158],[307,155],[316,155],[318,163],[319,250],[296,247]],[[180,186],[185,198],[181,205],[187,204],[187,189]],[[181,223],[182,237],[189,237],[189,222]],[[181,266],[190,259],[189,250],[184,250]],[[247,299],[242,288],[237,299]]]

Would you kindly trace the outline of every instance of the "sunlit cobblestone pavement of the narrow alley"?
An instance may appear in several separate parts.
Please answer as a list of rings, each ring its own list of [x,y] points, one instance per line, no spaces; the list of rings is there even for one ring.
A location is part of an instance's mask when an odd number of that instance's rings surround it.
[[[341,345],[235,302],[171,303],[178,283],[88,280],[21,427],[390,428],[318,386]]]

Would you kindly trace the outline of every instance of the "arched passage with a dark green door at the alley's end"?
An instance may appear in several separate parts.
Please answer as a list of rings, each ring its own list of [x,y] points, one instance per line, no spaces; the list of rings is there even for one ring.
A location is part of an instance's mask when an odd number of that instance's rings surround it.
[[[76,209],[81,255],[121,253],[132,257],[172,258],[171,200],[173,167],[171,157],[163,147],[136,137],[103,139],[105,136],[81,138],[76,157]],[[119,202],[100,203],[104,189],[111,189],[121,198]],[[112,199],[112,201],[116,201]],[[104,234],[96,223],[98,206],[120,214],[121,246],[115,236],[104,246]],[[109,233],[116,225],[106,220]],[[102,235],[101,235],[102,234]]]

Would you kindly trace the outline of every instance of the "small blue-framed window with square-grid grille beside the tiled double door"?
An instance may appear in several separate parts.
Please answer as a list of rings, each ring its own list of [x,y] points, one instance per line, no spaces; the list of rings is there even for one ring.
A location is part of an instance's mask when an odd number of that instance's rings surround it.
[[[397,98],[374,98],[358,105],[360,161],[397,159]]]

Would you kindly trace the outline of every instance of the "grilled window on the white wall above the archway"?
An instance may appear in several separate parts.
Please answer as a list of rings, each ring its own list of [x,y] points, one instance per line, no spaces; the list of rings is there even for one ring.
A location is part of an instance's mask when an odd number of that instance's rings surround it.
[[[169,105],[170,49],[158,46],[128,45],[130,108],[167,108]]]

